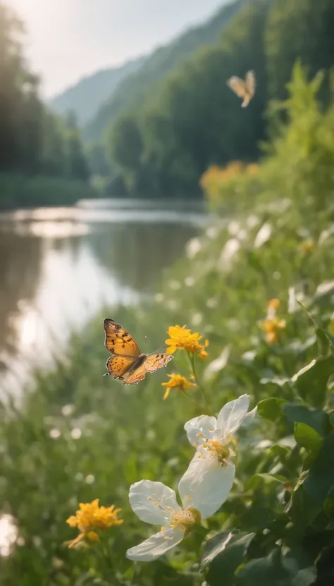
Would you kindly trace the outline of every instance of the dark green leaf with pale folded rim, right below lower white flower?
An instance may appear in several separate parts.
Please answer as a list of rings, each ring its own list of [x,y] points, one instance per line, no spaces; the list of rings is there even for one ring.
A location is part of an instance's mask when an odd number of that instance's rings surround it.
[[[201,570],[207,568],[206,581],[210,586],[232,586],[235,570],[244,561],[254,533],[223,531],[209,539],[204,547]]]

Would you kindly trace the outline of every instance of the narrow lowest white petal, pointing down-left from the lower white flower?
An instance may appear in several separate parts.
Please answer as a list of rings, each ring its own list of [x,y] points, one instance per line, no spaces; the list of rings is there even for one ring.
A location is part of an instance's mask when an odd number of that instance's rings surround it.
[[[139,545],[128,549],[126,557],[134,561],[152,561],[182,542],[184,530],[166,529],[155,533]]]

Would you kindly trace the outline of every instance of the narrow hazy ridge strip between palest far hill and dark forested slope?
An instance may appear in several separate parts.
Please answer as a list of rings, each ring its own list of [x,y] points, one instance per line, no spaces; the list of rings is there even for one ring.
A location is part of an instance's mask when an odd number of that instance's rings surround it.
[[[97,114],[84,128],[87,141],[99,140],[110,122],[125,109],[136,107],[151,92],[151,85],[161,81],[187,55],[199,47],[214,44],[223,28],[240,10],[245,0],[223,6],[204,25],[191,28],[173,42],[156,49],[149,56],[140,71],[121,82]]]

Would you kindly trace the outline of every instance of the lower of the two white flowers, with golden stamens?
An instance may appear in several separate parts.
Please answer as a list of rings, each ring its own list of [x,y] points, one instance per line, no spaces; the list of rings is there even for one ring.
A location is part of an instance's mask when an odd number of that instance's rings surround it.
[[[193,489],[192,474],[180,479],[178,491],[182,507],[178,505],[175,491],[161,482],[140,480],[130,486],[129,500],[132,510],[140,520],[160,525],[161,530],[141,544],[128,549],[130,560],[152,561],[178,545],[190,534],[192,527],[202,519],[211,517],[228,496],[216,498],[218,486],[211,484],[206,491]],[[219,479],[220,480],[220,479]]]

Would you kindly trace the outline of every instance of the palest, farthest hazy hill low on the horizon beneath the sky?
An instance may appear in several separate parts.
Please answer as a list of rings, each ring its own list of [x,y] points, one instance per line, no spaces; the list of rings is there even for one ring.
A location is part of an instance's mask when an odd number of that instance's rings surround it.
[[[80,126],[97,113],[101,104],[109,98],[123,78],[134,73],[144,62],[144,57],[127,61],[120,67],[102,69],[49,100],[48,105],[55,114],[63,115],[74,110]]]

